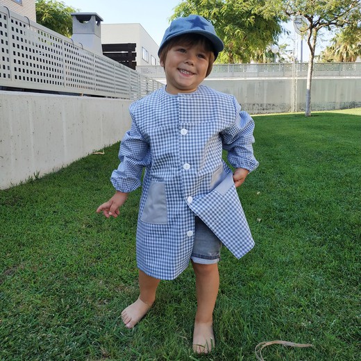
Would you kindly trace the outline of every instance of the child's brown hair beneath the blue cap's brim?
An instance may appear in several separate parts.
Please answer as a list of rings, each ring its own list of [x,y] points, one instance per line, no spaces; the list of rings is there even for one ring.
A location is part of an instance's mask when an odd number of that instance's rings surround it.
[[[167,53],[169,49],[171,49],[171,47],[174,47],[174,45],[176,44],[184,44],[187,47],[193,45],[203,46],[205,51],[209,52],[209,63],[205,77],[207,77],[210,72],[212,72],[213,62],[215,62],[215,49],[213,48],[212,42],[210,42],[207,37],[197,33],[179,35],[171,38],[168,42],[166,42],[165,45],[163,45],[162,49],[160,49],[159,51],[160,63],[163,63],[163,66],[165,64],[165,59],[167,58]]]

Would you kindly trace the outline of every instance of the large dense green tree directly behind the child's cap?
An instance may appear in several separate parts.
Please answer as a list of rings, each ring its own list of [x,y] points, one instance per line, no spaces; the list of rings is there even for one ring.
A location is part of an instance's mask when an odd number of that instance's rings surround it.
[[[276,42],[281,33],[279,12],[267,0],[183,0],[176,17],[197,14],[215,26],[224,42],[217,62],[250,62]]]

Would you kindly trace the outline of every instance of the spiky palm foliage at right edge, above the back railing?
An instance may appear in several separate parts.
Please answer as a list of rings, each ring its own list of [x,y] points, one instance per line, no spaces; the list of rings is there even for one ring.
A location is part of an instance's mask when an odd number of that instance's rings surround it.
[[[354,62],[361,56],[361,28],[344,28],[321,53],[323,62]]]

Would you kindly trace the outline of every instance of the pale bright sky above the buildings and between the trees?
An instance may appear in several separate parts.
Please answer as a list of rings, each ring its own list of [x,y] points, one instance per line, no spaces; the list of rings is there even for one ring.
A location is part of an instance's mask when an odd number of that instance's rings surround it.
[[[96,12],[103,24],[140,23],[159,45],[165,29],[169,26],[169,17],[174,14],[174,8],[181,0],[62,0],[67,6],[72,6],[79,12]],[[296,58],[301,60],[301,37],[294,33],[293,24],[287,24],[291,33],[282,37],[279,44],[287,44],[289,50],[294,49]],[[316,54],[319,54],[327,42],[319,42]],[[303,61],[308,61],[308,45],[303,41]]]

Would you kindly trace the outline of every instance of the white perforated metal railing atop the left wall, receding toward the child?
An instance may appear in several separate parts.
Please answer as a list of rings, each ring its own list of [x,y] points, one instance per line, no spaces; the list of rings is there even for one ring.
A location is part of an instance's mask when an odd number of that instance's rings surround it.
[[[0,6],[0,89],[139,99],[163,84]]]

